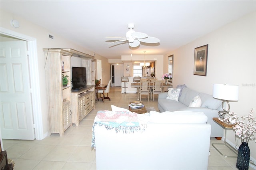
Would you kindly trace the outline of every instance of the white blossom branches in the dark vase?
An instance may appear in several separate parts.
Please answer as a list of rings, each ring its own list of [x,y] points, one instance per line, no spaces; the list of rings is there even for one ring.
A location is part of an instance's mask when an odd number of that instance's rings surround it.
[[[250,140],[256,142],[256,120],[252,115],[253,109],[250,111],[248,116],[242,116],[241,119],[234,112],[227,112],[227,116],[224,117],[223,121],[227,121],[234,124],[233,129],[235,135],[242,139],[242,142],[248,143]],[[247,123],[244,120],[248,120]]]

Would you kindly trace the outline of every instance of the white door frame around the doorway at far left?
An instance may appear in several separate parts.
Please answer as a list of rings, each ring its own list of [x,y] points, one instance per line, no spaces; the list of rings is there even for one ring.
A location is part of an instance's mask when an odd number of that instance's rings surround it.
[[[31,81],[31,97],[32,97],[32,111],[34,118],[34,131],[36,140],[44,138],[43,124],[42,124],[42,106],[40,99],[40,84],[39,84],[39,71],[38,71],[38,55],[36,38],[8,30],[0,27],[0,33],[13,38],[27,41],[29,57],[29,70]]]

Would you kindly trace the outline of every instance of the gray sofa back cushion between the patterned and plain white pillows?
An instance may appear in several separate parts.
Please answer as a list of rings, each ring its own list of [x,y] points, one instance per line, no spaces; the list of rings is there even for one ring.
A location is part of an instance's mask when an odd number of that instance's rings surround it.
[[[182,94],[180,95],[179,101],[186,105],[187,107],[189,106],[190,102],[199,95],[199,92],[194,91],[192,89],[188,89],[188,87],[184,87],[182,89]],[[201,98],[202,99],[202,98]]]

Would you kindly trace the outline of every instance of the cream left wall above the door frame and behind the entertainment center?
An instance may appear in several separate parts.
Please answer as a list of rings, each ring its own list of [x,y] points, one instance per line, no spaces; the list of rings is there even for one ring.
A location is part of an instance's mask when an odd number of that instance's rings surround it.
[[[44,136],[48,135],[50,132],[50,125],[49,125],[49,117],[48,117],[48,104],[47,104],[47,96],[46,96],[46,87],[44,86],[45,83],[45,71],[44,71],[44,63],[45,63],[45,56],[43,52],[43,48],[72,48],[77,51],[81,51],[83,53],[88,53],[89,55],[94,55],[93,51],[90,51],[88,49],[85,49],[84,47],[77,45],[74,42],[71,42],[69,40],[66,40],[60,36],[58,36],[58,33],[50,32],[54,36],[54,40],[48,38],[48,32],[49,30],[46,30],[45,28],[38,26],[36,24],[33,24],[31,22],[28,22],[27,20],[24,20],[23,18],[16,16],[14,14],[11,14],[9,12],[6,12],[1,9],[0,11],[0,21],[1,21],[1,27],[18,32],[20,34],[24,34],[26,36],[30,36],[32,38],[36,38],[37,42],[37,53],[38,56],[38,70],[39,70],[39,76],[40,76],[40,94],[41,94],[41,105],[42,105],[42,123],[43,123],[43,132]],[[16,19],[20,22],[20,28],[13,28],[10,25],[10,21]],[[108,64],[108,59],[105,57],[102,57],[95,53],[95,59],[102,60],[102,71],[104,71],[104,78],[102,79],[102,83],[108,83],[109,77],[110,77],[110,65]],[[75,60],[75,61],[74,61]],[[74,59],[72,62],[77,64],[76,59]]]

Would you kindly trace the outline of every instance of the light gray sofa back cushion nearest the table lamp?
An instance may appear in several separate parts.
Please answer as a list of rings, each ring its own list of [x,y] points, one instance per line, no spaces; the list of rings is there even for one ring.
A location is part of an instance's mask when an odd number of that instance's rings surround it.
[[[214,99],[211,95],[199,93],[199,96],[202,100],[201,107],[207,107],[209,109],[217,110],[222,104],[221,100]]]

